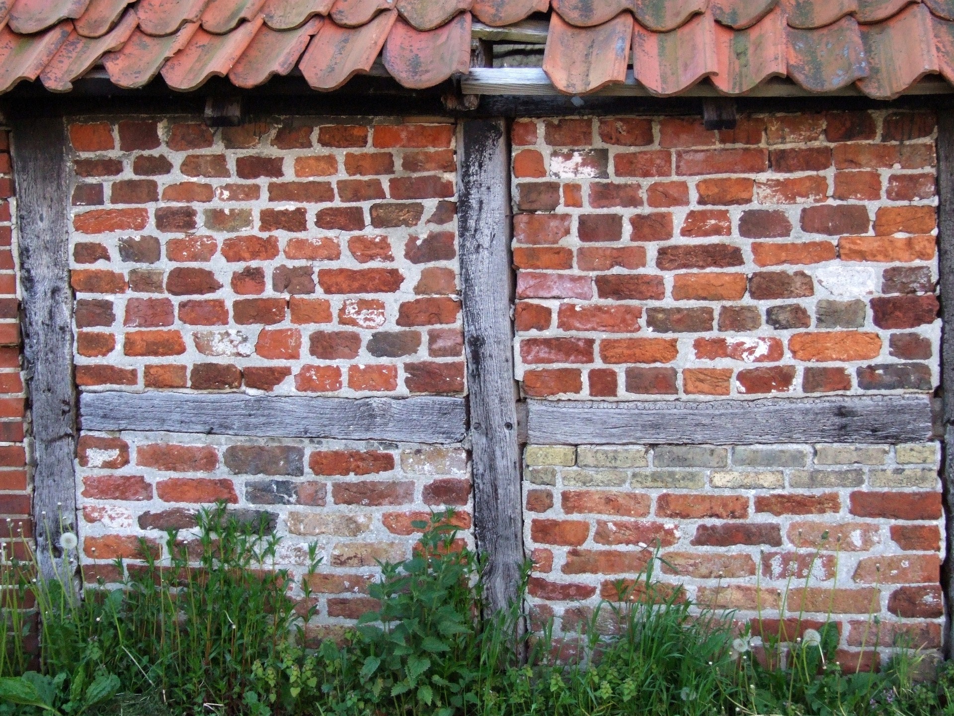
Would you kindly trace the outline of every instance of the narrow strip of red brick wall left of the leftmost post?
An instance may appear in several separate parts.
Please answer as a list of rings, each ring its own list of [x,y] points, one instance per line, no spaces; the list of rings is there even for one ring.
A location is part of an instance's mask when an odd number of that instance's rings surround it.
[[[0,128],[0,537],[32,536],[25,394],[20,376],[20,326],[10,167],[10,133]],[[17,549],[17,554],[20,550]]]

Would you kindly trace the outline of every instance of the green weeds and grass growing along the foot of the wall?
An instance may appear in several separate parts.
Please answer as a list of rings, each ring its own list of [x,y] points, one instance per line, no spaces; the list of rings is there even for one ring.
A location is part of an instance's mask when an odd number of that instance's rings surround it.
[[[143,541],[142,563],[116,563],[117,588],[100,582],[85,597],[74,537],[52,581],[33,579],[29,552],[4,559],[0,715],[954,716],[954,665],[920,680],[919,644],[899,644],[881,671],[842,673],[833,621],[804,629],[799,614],[770,635],[760,619],[755,637],[732,613],[658,584],[657,555],[578,633],[555,636],[552,622],[530,633],[522,593],[487,614],[484,564],[452,517],[415,522],[413,556],[382,564],[370,588],[379,609],[316,649],[305,646],[308,579],[292,600],[291,576],[275,566],[280,538],[224,505],[199,514],[196,534],[170,532],[164,559]],[[313,573],[314,547],[309,557]],[[23,645],[31,609],[38,671]],[[865,642],[879,630],[872,617]]]

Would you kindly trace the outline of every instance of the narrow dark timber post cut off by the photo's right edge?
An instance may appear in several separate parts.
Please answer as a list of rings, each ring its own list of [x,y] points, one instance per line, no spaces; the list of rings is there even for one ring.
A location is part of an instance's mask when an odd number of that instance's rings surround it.
[[[946,557],[941,584],[946,605],[944,655],[954,651],[954,110],[938,112],[938,238],[941,287],[941,388],[944,411],[942,490]]]

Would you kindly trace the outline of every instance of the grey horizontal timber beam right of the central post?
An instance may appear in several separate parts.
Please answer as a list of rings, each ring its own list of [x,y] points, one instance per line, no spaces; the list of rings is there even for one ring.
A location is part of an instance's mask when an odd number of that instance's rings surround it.
[[[583,403],[531,400],[537,445],[902,443],[931,439],[926,395]]]

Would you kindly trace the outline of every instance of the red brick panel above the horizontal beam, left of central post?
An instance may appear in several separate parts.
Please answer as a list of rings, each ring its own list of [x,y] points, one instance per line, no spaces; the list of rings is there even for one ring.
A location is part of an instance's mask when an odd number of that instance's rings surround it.
[[[463,392],[452,124],[70,137],[81,387]]]

